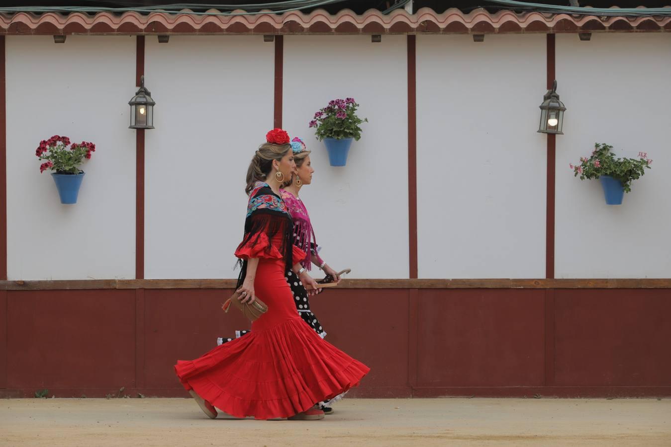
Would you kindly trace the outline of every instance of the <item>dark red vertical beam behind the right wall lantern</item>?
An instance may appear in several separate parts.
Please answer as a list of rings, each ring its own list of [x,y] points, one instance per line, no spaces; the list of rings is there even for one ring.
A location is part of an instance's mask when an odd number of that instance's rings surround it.
[[[548,90],[556,78],[555,35],[548,34]],[[548,172],[546,174],[546,278],[554,278],[554,194],[555,194],[556,135],[548,133]]]

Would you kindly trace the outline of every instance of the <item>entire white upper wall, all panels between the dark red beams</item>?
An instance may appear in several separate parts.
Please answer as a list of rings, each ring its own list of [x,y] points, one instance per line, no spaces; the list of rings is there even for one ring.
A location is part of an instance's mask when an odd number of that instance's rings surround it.
[[[134,277],[135,53],[126,36],[7,37],[9,279]],[[236,277],[244,177],[272,127],[273,56],[261,36],[147,38],[146,277]],[[321,254],[352,277],[408,277],[406,36],[286,36],[284,56],[283,127],[313,149],[302,196]],[[558,35],[556,56],[568,108],[556,277],[668,277],[671,36]],[[417,37],[419,277],[544,277],[545,70],[544,35]],[[370,119],[344,168],[307,127],[336,97]],[[97,144],[75,205],[39,173],[34,150],[54,134]],[[595,141],[654,159],[621,206],[568,168]]]

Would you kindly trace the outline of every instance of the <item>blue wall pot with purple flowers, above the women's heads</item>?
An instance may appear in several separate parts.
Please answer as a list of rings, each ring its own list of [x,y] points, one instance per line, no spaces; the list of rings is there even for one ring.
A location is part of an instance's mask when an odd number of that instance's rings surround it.
[[[334,99],[329,105],[319,109],[309,123],[315,127],[315,135],[319,141],[324,141],[329,153],[331,166],[345,166],[347,154],[352,145],[352,139],[361,138],[361,123],[368,123],[368,119],[356,116],[359,105],[354,98]]]

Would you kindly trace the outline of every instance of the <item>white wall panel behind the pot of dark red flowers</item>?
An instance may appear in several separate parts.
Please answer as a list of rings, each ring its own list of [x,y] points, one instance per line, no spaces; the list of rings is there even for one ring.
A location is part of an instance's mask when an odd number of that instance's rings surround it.
[[[135,38],[8,36],[7,276],[9,279],[135,275]],[[93,141],[74,205],[60,204],[40,140]]]

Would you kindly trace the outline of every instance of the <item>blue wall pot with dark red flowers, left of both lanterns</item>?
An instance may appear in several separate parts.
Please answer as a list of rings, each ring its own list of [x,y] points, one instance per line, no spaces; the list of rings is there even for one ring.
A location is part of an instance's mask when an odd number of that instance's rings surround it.
[[[35,155],[44,160],[40,165],[40,174],[46,170],[54,171],[51,175],[56,182],[61,203],[77,202],[79,187],[84,178],[84,171],[79,169],[79,165],[84,159],[90,159],[93,152],[95,144],[82,141],[70,145],[70,139],[60,135],[40,141],[40,147],[35,151]]]

